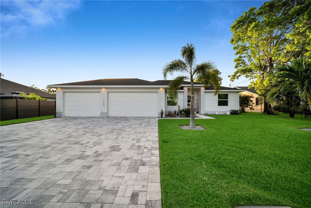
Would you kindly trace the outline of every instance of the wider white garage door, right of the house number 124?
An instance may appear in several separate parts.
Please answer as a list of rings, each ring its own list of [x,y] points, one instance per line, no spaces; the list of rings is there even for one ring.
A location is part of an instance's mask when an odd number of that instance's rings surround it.
[[[109,117],[158,117],[157,92],[108,92]]]

